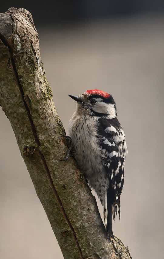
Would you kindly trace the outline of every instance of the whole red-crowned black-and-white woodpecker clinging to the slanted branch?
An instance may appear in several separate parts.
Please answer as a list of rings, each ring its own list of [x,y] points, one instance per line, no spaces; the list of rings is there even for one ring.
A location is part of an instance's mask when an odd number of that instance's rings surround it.
[[[69,95],[77,102],[70,119],[69,143],[80,170],[104,207],[106,233],[114,237],[112,217],[119,214],[127,154],[125,134],[117,119],[116,103],[109,93],[87,90]],[[67,154],[66,159],[69,157]]]

